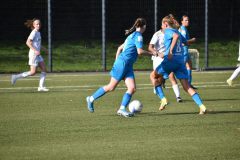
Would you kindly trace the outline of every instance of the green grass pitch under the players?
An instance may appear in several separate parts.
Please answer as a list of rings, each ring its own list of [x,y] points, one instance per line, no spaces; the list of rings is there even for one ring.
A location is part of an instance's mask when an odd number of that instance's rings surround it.
[[[0,159],[239,159],[240,81],[228,87],[231,73],[193,73],[210,110],[201,116],[182,88],[184,102],[176,102],[169,82],[170,104],[158,111],[149,72],[135,72],[132,99],[144,108],[133,118],[116,115],[124,83],[87,111],[85,97],[109,82],[105,73],[48,74],[48,93],[37,92],[38,76],[12,87],[10,75],[0,75]]]

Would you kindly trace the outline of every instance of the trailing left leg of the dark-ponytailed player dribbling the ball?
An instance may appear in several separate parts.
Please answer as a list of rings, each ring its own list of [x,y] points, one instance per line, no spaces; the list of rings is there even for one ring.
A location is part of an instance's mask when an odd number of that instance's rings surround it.
[[[105,93],[113,91],[118,85],[118,83],[118,80],[111,77],[110,82],[106,86],[98,88],[91,96],[88,96],[86,100],[89,112],[94,112],[93,102],[98,98],[102,97]]]

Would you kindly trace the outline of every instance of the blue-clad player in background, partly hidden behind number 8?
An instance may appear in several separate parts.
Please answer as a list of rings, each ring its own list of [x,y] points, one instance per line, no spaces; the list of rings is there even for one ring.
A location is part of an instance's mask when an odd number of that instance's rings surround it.
[[[188,44],[194,43],[196,41],[196,38],[190,39],[188,30],[187,30],[187,27],[189,26],[189,17],[187,15],[183,15],[181,19],[181,23],[182,25],[179,28],[179,32],[188,41]],[[187,72],[188,72],[188,83],[193,89],[197,89],[196,87],[192,86],[192,60],[190,58],[190,54],[188,53],[188,45],[184,45],[183,50],[184,50],[184,62],[186,63]]]

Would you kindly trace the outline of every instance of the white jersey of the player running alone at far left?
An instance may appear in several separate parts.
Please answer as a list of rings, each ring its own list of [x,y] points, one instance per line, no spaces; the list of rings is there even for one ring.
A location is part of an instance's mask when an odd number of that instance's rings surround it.
[[[28,39],[32,40],[33,47],[37,50],[41,50],[41,34],[37,30],[32,30],[30,35],[28,36]],[[29,50],[29,53],[34,51],[32,49]]]

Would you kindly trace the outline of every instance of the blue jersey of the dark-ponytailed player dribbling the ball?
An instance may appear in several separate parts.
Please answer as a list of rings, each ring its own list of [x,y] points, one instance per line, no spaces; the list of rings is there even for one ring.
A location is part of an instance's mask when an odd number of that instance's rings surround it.
[[[137,48],[143,48],[143,37],[140,32],[133,32],[124,42],[123,51],[118,58],[122,58],[126,63],[136,62],[138,53]]]

